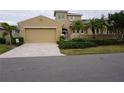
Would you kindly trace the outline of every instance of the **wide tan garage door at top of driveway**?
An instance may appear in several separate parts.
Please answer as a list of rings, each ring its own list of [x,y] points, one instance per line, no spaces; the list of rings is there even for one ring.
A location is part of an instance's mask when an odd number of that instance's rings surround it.
[[[56,29],[26,29],[26,43],[56,42]]]

